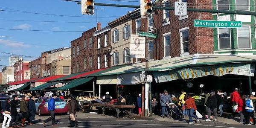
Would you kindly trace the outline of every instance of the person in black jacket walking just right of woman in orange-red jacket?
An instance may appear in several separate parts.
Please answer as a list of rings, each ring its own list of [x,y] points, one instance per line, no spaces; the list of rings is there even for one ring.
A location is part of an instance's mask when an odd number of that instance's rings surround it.
[[[210,93],[210,96],[206,102],[206,106],[207,106],[207,115],[208,115],[208,119],[206,119],[206,121],[211,121],[211,119],[210,119],[211,112],[213,112],[213,114],[215,116],[214,121],[217,121],[218,99],[215,96],[214,92]]]

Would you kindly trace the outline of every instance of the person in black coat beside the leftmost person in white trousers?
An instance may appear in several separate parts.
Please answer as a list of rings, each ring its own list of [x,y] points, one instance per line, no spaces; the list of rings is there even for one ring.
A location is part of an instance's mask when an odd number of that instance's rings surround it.
[[[12,119],[11,119],[11,122],[10,122],[10,127],[20,127],[18,126],[18,121],[20,119],[20,115],[19,113],[17,112],[17,108],[18,108],[18,96],[14,96],[12,102],[11,102],[11,116],[12,116]],[[15,120],[15,123],[14,125],[12,125],[12,123],[14,122]]]

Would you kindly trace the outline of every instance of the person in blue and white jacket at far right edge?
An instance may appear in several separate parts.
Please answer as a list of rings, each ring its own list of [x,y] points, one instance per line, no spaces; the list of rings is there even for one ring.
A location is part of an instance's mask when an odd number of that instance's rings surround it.
[[[250,123],[250,117],[252,117],[253,119],[253,124],[255,125],[256,124],[256,120],[255,120],[255,117],[254,117],[254,108],[253,108],[253,95],[250,95],[249,97],[247,96],[245,98],[245,125],[251,125]]]

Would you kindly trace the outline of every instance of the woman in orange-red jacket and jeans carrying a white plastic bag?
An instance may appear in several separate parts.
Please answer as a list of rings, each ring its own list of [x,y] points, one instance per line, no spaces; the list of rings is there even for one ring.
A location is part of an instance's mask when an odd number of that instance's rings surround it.
[[[183,106],[182,110],[184,110],[185,107],[189,116],[189,124],[194,123],[192,120],[192,117],[194,117],[196,119],[196,122],[198,122],[199,121],[198,117],[194,115],[194,111],[197,110],[195,106],[195,100],[190,95],[186,95],[185,105]]]

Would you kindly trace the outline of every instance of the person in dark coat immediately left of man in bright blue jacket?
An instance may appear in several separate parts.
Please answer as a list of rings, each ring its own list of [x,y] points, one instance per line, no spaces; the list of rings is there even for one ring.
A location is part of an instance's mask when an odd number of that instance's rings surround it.
[[[28,102],[28,111],[29,111],[29,125],[34,125],[32,121],[35,119],[35,96],[31,96]]]

